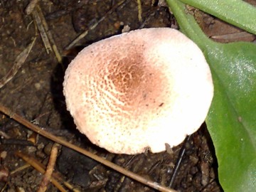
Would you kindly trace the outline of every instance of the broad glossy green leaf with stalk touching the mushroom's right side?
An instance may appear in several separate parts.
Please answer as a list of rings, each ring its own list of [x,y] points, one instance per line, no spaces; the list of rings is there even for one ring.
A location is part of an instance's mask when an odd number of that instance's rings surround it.
[[[215,43],[177,0],[167,0],[181,31],[203,50],[215,93],[206,119],[225,191],[256,188],[256,45]]]

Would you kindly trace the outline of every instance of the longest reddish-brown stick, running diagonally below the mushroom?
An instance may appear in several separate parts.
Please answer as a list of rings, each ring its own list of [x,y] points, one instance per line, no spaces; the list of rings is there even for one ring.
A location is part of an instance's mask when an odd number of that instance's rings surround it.
[[[174,189],[167,188],[166,186],[161,186],[159,183],[156,183],[154,181],[149,181],[148,179],[146,179],[142,176],[134,174],[132,171],[127,171],[126,169],[122,168],[121,166],[117,166],[116,164],[113,164],[112,162],[107,161],[100,156],[90,153],[90,151],[87,151],[78,146],[75,146],[74,144],[70,144],[69,142],[67,142],[63,139],[60,139],[59,137],[56,137],[53,134],[50,134],[49,132],[46,132],[45,130],[36,126],[36,124],[33,124],[33,123],[29,122],[28,120],[23,119],[23,117],[19,116],[18,114],[11,112],[11,110],[4,107],[3,105],[0,105],[0,111],[3,112],[4,114],[8,115],[12,119],[16,120],[16,122],[19,122],[19,123],[23,124],[25,127],[28,127],[29,129],[33,130],[34,132],[41,134],[43,137],[51,139],[54,142],[62,144],[63,146],[67,146],[70,149],[78,151],[81,154],[84,154],[85,156],[88,156],[91,159],[94,159],[95,161],[98,161],[101,164],[104,164],[105,166],[108,166],[111,169],[114,169],[115,171],[118,171],[119,173],[124,174],[125,176],[128,176],[129,178],[133,178],[134,180],[139,181],[140,183],[143,183],[146,186],[150,186],[151,188],[154,188],[159,191],[176,192]]]

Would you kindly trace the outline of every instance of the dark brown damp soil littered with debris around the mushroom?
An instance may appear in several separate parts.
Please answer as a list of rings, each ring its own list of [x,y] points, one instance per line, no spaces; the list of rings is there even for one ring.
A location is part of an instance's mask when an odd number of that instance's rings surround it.
[[[151,27],[178,28],[174,16],[162,1],[142,1],[142,21],[139,21],[135,0],[39,1],[38,6],[46,18],[63,63],[58,62],[53,51],[47,53],[33,16],[26,14],[28,4],[27,0],[0,1],[0,79],[14,65],[20,64],[17,73],[12,73],[10,81],[0,88],[1,105],[68,142],[164,186],[171,186],[177,191],[223,191],[218,182],[218,162],[213,143],[205,124],[187,142],[165,152],[116,155],[90,144],[75,129],[65,107],[63,75],[68,63],[81,48],[122,31]],[[240,29],[196,9],[191,11],[206,34],[217,41],[255,40],[255,36],[249,33],[242,37],[230,35],[239,33]],[[68,45],[84,31],[88,31],[87,35],[69,48]],[[17,56],[35,37],[28,58],[21,62]],[[0,113],[0,117],[1,191],[37,191],[43,174],[32,166],[23,167],[26,162],[16,155],[16,151],[46,166],[53,142],[33,134],[4,114]],[[183,156],[181,151],[185,151]],[[178,159],[181,159],[181,166],[174,181],[171,181]],[[154,191],[64,146],[59,150],[55,171],[80,191]],[[58,189],[49,184],[47,191]]]

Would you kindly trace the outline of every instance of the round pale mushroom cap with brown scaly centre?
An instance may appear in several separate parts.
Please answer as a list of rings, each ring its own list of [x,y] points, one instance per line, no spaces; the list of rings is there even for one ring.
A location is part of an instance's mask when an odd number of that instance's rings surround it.
[[[213,98],[201,50],[171,28],[145,28],[84,48],[63,82],[77,128],[117,154],[156,153],[196,132]]]

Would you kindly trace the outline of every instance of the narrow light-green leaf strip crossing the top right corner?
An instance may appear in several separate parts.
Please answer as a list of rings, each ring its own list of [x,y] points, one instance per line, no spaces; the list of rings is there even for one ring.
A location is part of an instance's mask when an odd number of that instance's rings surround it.
[[[181,0],[223,21],[256,34],[256,9],[242,0]]]

